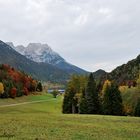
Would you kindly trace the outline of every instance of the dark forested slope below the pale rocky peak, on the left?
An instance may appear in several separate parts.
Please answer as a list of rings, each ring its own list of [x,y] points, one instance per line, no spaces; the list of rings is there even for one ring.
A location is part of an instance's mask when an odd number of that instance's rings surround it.
[[[27,59],[10,46],[0,41],[0,64],[9,64],[39,80],[65,82],[69,78],[69,73],[51,64],[37,63]]]

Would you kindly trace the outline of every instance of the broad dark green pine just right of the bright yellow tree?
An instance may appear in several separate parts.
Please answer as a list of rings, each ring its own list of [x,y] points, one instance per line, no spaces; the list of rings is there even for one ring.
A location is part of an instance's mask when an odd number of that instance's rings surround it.
[[[103,111],[106,115],[122,115],[122,97],[118,86],[107,85],[103,97]]]

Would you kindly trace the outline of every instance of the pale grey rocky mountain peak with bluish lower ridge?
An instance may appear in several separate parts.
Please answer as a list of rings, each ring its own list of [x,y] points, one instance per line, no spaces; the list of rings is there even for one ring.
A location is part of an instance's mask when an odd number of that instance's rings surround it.
[[[70,74],[87,73],[85,70],[68,63],[58,53],[53,51],[47,44],[30,43],[27,47],[24,47],[23,45],[18,45],[14,47],[12,42],[8,42],[7,44],[14,48],[17,52],[26,56],[28,59],[34,62],[51,64]]]

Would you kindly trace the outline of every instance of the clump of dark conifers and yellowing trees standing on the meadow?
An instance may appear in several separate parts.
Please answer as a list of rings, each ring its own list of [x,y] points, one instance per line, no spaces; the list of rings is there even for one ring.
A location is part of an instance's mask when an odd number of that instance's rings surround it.
[[[139,85],[139,84],[137,84]],[[64,95],[63,113],[127,115],[119,86],[113,81],[95,81],[89,77],[73,76]],[[140,115],[140,103],[135,106],[134,115]]]

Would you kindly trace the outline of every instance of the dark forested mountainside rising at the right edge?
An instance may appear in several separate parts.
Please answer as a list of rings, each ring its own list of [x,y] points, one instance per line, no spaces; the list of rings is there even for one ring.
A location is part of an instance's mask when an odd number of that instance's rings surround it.
[[[133,81],[140,74],[140,55],[137,58],[129,61],[126,64],[118,66],[108,74],[109,79],[115,80],[119,84],[124,84],[128,81]]]

